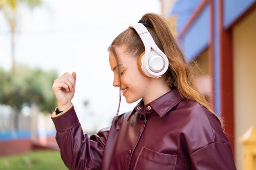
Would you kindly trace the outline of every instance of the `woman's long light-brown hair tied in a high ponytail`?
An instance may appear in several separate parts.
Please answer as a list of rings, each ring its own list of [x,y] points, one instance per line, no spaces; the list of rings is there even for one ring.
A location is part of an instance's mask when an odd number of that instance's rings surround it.
[[[206,98],[198,91],[195,85],[193,70],[189,63],[186,63],[184,54],[177,44],[175,37],[172,35],[171,26],[168,22],[161,15],[155,13],[146,13],[141,17],[141,20],[149,22],[152,25],[152,27],[147,27],[147,29],[157,46],[168,58],[169,67],[164,74],[167,85],[171,88],[177,87],[183,98],[198,102],[216,115],[209,106]],[[133,28],[127,28],[124,32],[119,34],[108,48],[108,51],[112,52],[115,56],[117,64],[119,63],[119,57],[115,47],[120,46],[126,46],[126,52],[137,57],[145,50],[143,42]],[[119,72],[118,67],[117,69]],[[120,80],[119,74],[119,84],[121,84]],[[218,118],[221,122],[222,129],[224,129],[222,119],[220,117]]]

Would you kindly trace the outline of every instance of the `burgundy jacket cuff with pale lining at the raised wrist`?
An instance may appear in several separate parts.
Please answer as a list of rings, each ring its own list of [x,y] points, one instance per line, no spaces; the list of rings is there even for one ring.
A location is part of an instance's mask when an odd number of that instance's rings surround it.
[[[56,115],[56,113],[55,113],[55,116],[54,116],[54,113],[51,116],[52,121],[56,128],[56,131],[58,131],[58,132],[67,131],[67,130],[71,129],[72,127],[74,127],[79,122],[73,105],[71,105],[70,108],[68,108],[67,110],[65,110],[63,112],[58,114],[61,116]]]

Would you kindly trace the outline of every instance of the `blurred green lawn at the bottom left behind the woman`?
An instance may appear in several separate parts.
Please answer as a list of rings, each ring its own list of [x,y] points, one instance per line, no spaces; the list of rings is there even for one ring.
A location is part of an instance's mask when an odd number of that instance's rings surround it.
[[[32,151],[0,157],[0,170],[67,170],[59,151]]]

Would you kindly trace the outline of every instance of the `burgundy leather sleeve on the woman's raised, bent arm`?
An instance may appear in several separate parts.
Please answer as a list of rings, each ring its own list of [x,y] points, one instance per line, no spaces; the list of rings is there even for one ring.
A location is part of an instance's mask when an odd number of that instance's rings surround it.
[[[109,129],[101,130],[90,138],[83,133],[73,105],[66,111],[52,114],[56,128],[56,141],[61,158],[70,170],[94,170],[101,168],[103,150]]]

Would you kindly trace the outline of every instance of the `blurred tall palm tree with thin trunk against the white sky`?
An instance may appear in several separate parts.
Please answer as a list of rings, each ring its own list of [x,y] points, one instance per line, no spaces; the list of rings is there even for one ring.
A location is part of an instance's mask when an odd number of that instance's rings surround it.
[[[11,59],[12,71],[15,70],[15,33],[17,21],[17,9],[22,4],[29,8],[34,8],[41,4],[40,0],[0,0],[0,11],[4,14],[11,29]]]

